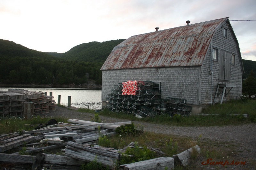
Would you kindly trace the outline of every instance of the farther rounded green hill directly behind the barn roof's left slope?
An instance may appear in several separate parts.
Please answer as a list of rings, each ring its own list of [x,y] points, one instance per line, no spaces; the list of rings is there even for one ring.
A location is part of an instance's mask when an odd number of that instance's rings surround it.
[[[122,43],[124,39],[111,40],[105,42],[83,43],[71,48],[65,53],[47,53],[55,57],[67,60],[99,62],[104,63],[113,48]]]

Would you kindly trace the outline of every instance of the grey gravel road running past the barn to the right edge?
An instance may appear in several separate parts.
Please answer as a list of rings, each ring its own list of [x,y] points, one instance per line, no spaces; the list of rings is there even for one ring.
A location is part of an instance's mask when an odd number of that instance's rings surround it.
[[[69,119],[79,119],[92,121],[94,114],[92,113],[82,113],[77,112],[77,108],[61,108],[56,107],[56,111],[51,111],[48,114],[45,114],[45,117],[66,117]],[[112,117],[100,116],[100,120],[103,123],[112,123],[112,122],[123,122],[129,121],[127,119],[116,119]],[[162,133],[168,135],[178,135],[178,136],[187,136],[194,139],[198,138],[201,134],[201,142],[204,141],[217,141],[218,143],[232,143],[232,146],[237,146],[239,150],[242,150],[239,155],[236,155],[237,158],[244,158],[245,160],[254,160],[253,166],[228,166],[228,169],[256,169],[256,123],[239,125],[239,126],[213,126],[213,127],[179,127],[172,125],[161,125],[153,124],[142,121],[132,121],[135,126],[143,127],[144,131]],[[211,147],[211,146],[209,146]],[[236,148],[233,148],[236,149]],[[242,161],[242,160],[237,160]],[[216,166],[214,166],[216,167]],[[221,166],[220,169],[222,169]],[[217,168],[219,169],[219,168]],[[225,168],[227,169],[227,167]]]

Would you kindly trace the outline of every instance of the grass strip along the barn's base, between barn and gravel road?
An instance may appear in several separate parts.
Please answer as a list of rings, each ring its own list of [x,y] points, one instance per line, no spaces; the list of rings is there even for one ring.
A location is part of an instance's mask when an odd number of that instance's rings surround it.
[[[137,120],[150,123],[161,123],[174,126],[226,126],[226,125],[241,125],[251,122],[256,122],[256,100],[239,99],[225,102],[222,104],[215,104],[210,107],[204,108],[202,113],[207,114],[219,114],[210,116],[194,116],[190,115],[180,116],[174,115],[170,117],[168,115],[157,115],[154,118],[136,118],[134,114],[128,114],[123,112],[111,112],[108,109],[104,109],[98,112],[99,115],[114,117],[119,119],[128,119],[131,121]],[[91,109],[78,109],[78,112],[90,112],[96,113]],[[239,114],[239,115],[228,115]],[[244,118],[242,114],[248,114],[248,118]]]

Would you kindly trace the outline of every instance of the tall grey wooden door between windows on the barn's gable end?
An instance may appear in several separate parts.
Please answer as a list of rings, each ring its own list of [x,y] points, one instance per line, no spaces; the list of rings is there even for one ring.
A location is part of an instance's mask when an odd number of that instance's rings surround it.
[[[230,80],[231,54],[226,51],[220,51],[219,60],[219,79]]]

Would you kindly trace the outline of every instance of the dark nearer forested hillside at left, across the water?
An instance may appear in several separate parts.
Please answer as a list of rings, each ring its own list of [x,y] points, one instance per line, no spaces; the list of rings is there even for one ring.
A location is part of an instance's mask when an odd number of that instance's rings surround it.
[[[0,84],[101,84],[102,64],[68,61],[0,39]]]

